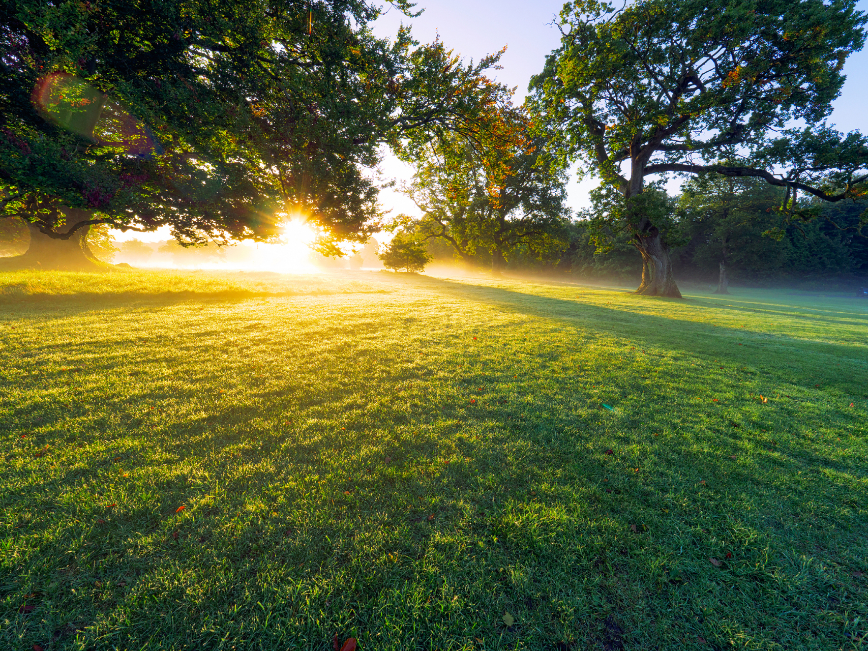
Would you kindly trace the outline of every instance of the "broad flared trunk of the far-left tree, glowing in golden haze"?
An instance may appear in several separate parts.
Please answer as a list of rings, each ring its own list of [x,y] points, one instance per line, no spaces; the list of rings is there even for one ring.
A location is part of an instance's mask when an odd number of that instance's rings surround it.
[[[56,231],[69,233],[77,223],[89,220],[91,213],[76,208],[63,208],[66,223]],[[30,247],[27,253],[10,258],[4,266],[56,269],[65,271],[92,271],[101,266],[88,248],[89,227],[79,228],[69,240],[56,240],[39,230],[36,224],[27,224],[30,231]]]

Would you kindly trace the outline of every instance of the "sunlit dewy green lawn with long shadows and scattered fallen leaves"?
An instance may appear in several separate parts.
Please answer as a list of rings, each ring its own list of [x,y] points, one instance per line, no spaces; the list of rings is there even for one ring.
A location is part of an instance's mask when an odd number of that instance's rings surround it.
[[[865,301],[33,278],[0,647],[862,648]]]

